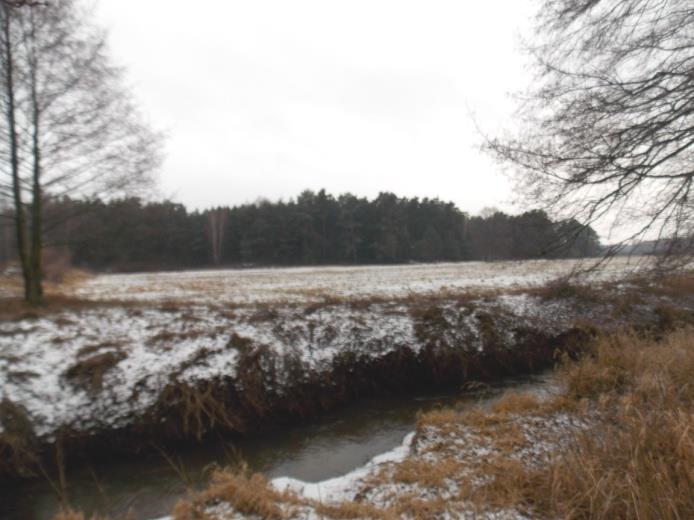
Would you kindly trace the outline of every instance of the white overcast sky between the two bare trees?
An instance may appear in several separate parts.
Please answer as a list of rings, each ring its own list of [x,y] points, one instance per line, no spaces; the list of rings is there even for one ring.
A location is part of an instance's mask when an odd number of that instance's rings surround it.
[[[94,0],[92,0],[94,1]],[[531,0],[96,0],[190,207],[325,188],[513,209],[480,153],[528,81]]]

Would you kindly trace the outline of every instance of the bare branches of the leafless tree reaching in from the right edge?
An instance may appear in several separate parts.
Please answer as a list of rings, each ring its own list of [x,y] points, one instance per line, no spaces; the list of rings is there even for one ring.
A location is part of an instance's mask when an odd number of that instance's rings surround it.
[[[694,3],[544,0],[519,128],[487,148],[567,218],[691,249]]]

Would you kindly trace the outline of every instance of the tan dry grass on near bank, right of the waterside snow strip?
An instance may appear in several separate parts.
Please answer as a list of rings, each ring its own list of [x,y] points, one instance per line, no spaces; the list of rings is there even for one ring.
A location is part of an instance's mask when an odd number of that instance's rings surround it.
[[[390,478],[441,489],[453,481],[459,494],[448,507],[457,502],[479,514],[508,508],[544,518],[694,518],[692,374],[692,329],[657,340],[631,332],[603,336],[583,359],[558,370],[563,395],[510,392],[489,410],[422,415],[418,436],[434,432],[443,441],[382,472],[375,483]],[[536,429],[535,442],[551,444],[543,421],[567,413],[591,426],[572,434],[548,464],[518,456],[532,447],[528,425]],[[461,444],[450,439],[491,455],[456,461]],[[471,478],[484,483],[470,485]],[[408,495],[397,497],[391,510],[414,507],[413,501],[436,511],[431,500]]]

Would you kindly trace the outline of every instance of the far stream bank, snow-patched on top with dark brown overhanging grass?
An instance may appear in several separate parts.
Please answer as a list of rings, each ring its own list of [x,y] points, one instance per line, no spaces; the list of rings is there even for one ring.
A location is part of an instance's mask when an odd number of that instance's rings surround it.
[[[363,396],[531,373],[690,302],[612,285],[395,301],[94,306],[0,324],[0,474],[277,428]],[[42,469],[43,467],[43,469]]]

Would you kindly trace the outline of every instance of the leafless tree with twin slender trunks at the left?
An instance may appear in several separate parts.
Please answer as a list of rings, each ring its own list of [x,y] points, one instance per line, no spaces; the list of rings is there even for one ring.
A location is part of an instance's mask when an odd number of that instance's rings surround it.
[[[0,190],[14,202],[25,297],[38,303],[46,198],[131,192],[151,179],[160,137],[74,0],[4,0],[0,26]]]

